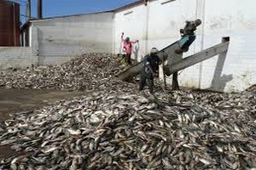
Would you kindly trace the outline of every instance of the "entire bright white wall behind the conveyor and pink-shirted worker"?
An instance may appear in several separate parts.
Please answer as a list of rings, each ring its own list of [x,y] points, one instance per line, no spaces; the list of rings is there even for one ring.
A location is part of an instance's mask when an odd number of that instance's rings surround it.
[[[200,18],[203,24],[196,31],[197,38],[183,57],[218,44],[222,37],[230,37],[230,48],[225,57],[215,56],[179,71],[180,85],[241,91],[256,83],[255,5],[254,0],[153,0],[147,6],[119,10],[114,17],[114,52],[119,53],[119,37],[124,31],[139,40],[132,57],[141,60],[150,48],[164,48],[177,41],[185,20]]]

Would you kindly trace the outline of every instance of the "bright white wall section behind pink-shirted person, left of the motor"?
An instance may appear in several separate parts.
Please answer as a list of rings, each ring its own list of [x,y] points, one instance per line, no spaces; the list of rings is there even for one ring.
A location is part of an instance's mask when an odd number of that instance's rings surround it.
[[[135,44],[134,59],[141,60],[150,48],[165,48],[179,38],[179,29],[185,20],[195,19],[195,0],[190,1],[155,0],[148,5],[137,5],[118,11],[114,16],[115,53],[119,53],[120,35],[139,40]],[[183,8],[189,6],[190,8]]]

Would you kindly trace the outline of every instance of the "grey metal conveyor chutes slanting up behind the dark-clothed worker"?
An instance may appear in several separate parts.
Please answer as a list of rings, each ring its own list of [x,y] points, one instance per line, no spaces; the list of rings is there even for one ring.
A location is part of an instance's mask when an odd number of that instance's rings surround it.
[[[165,73],[167,76],[170,76],[173,73],[183,70],[191,65],[200,63],[205,59],[210,59],[213,56],[227,52],[230,44],[230,37],[223,37],[221,43],[214,45],[211,48],[207,48],[199,53],[190,55],[184,59],[182,59],[183,53],[177,54],[175,52],[177,49],[179,49],[178,42],[179,41],[174,42],[166,48],[161,49],[158,53],[160,59],[163,61],[167,60],[167,64],[165,65]],[[123,81],[130,81],[132,77],[136,77],[138,74],[140,74],[142,67],[143,62],[133,65],[121,72],[118,78]]]

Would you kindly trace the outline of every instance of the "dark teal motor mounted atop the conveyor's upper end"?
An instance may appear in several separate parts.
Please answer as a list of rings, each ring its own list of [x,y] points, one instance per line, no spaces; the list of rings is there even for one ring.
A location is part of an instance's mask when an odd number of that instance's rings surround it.
[[[201,25],[201,20],[186,21],[186,26],[180,29],[181,40],[179,41],[180,49],[176,52],[183,53],[189,51],[189,46],[195,41],[196,27]]]

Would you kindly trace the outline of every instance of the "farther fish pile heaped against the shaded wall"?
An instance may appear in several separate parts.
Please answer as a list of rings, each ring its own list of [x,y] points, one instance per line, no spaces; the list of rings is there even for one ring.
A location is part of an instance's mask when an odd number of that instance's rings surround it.
[[[46,65],[18,71],[0,71],[4,88],[88,90],[124,68],[113,54],[84,54],[62,65]]]

